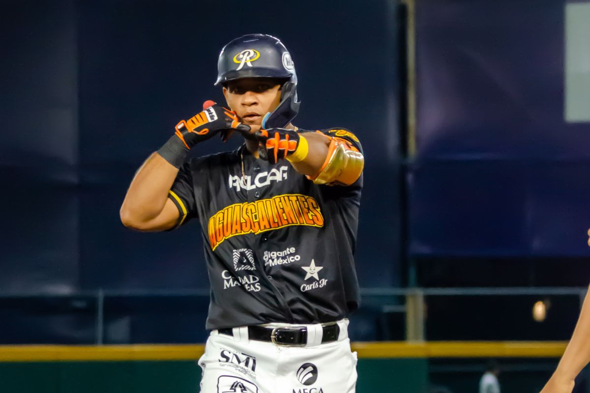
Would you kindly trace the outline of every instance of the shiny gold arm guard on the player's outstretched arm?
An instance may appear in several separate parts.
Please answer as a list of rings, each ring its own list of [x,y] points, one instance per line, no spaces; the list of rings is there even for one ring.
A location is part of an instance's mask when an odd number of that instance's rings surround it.
[[[342,141],[332,138],[326,162],[322,169],[309,179],[315,184],[350,186],[359,179],[364,166],[365,157],[359,151],[352,150]]]

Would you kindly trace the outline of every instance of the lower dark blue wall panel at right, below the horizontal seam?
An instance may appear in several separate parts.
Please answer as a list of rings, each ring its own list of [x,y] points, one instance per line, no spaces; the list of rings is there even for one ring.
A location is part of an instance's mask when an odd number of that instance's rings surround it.
[[[588,256],[586,163],[425,161],[408,176],[411,252]]]

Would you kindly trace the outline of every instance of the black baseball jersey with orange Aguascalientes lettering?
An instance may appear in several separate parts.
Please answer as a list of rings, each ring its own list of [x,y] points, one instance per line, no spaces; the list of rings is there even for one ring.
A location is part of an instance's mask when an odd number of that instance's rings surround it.
[[[348,130],[322,132],[362,151]],[[314,184],[289,161],[256,159],[245,145],[183,164],[169,198],[176,227],[201,222],[207,329],[331,322],[355,311],[361,189],[362,175],[348,187]]]

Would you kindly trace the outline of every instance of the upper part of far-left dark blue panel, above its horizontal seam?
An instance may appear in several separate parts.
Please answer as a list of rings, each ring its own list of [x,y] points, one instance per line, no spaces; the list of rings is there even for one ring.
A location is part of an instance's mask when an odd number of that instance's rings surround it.
[[[26,3],[2,2],[0,179],[5,179],[5,171],[22,170],[22,183],[75,184],[78,96],[74,5],[71,1]]]

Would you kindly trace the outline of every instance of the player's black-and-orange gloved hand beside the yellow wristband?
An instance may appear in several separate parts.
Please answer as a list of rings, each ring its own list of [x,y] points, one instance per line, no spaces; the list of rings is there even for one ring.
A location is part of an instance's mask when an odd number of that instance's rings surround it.
[[[287,156],[293,154],[299,145],[299,134],[286,128],[269,128],[256,133],[260,145],[258,154],[263,160],[276,164]]]

